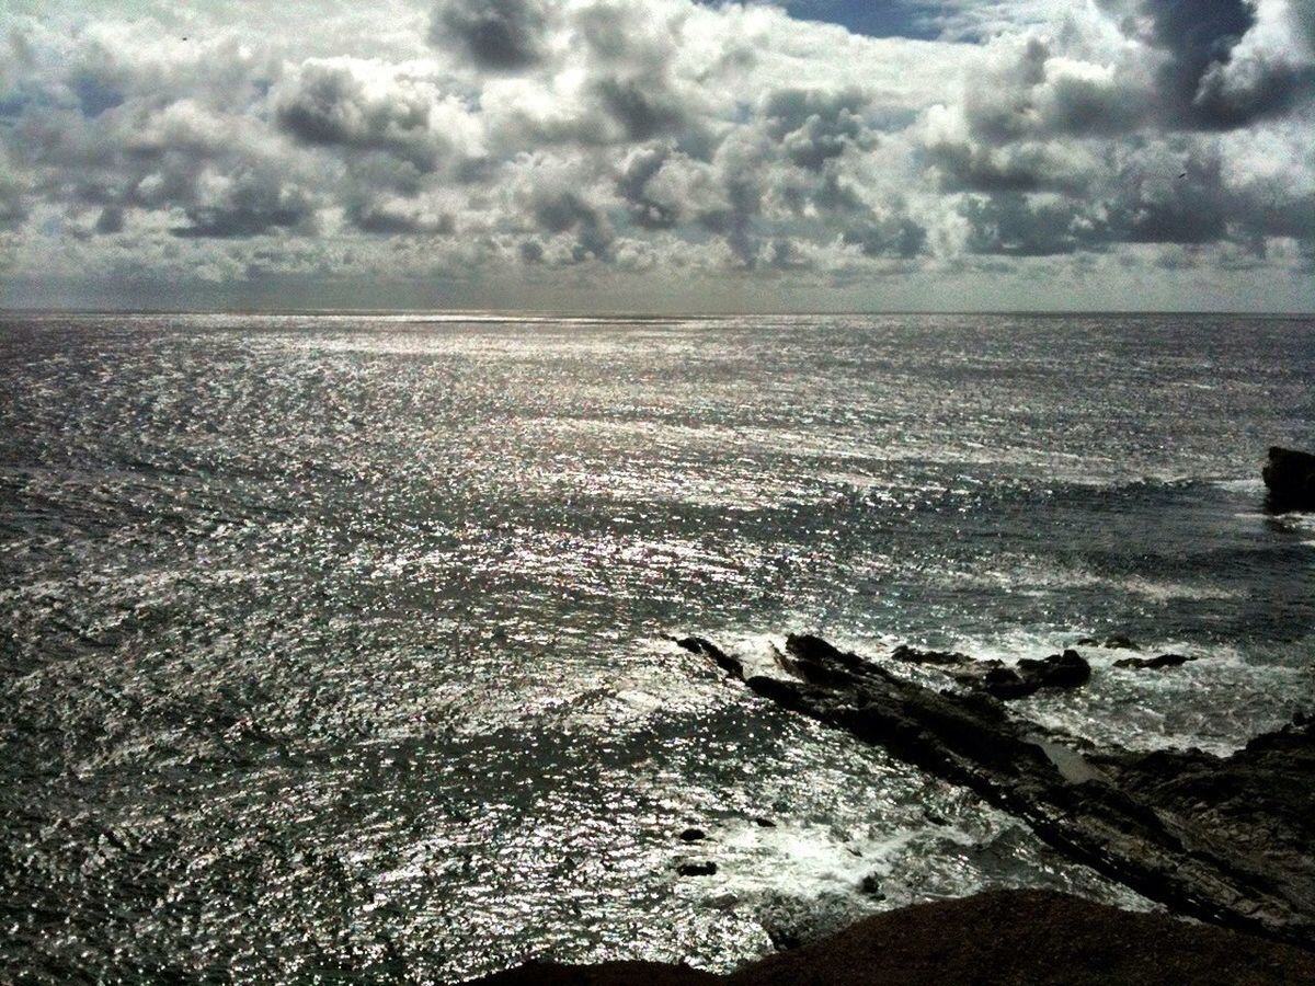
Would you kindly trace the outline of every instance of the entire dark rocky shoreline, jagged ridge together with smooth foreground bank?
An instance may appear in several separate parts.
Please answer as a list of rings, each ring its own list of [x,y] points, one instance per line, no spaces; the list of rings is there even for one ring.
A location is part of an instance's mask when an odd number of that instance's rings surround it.
[[[1315,719],[1298,715],[1226,757],[1102,751],[1006,705],[1084,686],[1090,665],[1074,648],[1007,667],[903,646],[877,663],[800,634],[764,670],[706,638],[673,642],[785,709],[972,789],[1069,858],[1203,923],[997,890],[888,911],[726,977],[646,962],[534,964],[479,982],[1315,982]],[[1136,649],[1122,636],[1078,647]],[[1173,673],[1189,660],[1119,664]],[[893,670],[914,667],[944,686]]]

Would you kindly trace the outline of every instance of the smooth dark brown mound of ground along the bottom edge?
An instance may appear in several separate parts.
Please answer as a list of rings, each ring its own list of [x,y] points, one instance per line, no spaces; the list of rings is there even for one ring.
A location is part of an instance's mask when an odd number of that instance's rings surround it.
[[[1315,956],[1165,915],[1043,890],[997,890],[878,914],[726,977],[685,966],[527,965],[485,986],[802,986],[803,983],[1203,983],[1315,981]]]

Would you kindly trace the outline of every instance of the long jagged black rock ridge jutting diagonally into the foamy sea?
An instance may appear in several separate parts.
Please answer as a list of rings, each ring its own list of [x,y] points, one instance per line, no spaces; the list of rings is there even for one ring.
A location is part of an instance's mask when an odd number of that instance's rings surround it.
[[[1084,755],[990,694],[938,692],[815,636],[790,636],[757,694],[881,745],[1027,822],[1069,857],[1170,907],[1315,947],[1315,735],[1310,720],[1232,757]],[[739,664],[715,644],[700,653]],[[1041,663],[1044,664],[1044,663]],[[1055,661],[1060,674],[1069,663]]]

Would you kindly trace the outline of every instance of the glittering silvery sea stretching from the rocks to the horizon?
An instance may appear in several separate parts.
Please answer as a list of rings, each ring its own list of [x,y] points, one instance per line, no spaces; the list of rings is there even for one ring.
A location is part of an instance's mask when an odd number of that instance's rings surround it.
[[[1232,749],[1315,705],[1315,523],[1258,481],[1312,381],[1308,318],[0,316],[0,979],[726,970],[985,886],[1147,906],[665,635],[1123,632],[1198,660],[1085,649],[1015,709]]]

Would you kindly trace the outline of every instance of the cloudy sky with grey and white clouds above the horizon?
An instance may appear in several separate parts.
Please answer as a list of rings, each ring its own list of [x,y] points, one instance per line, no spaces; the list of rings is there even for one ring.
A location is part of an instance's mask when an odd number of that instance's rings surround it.
[[[0,306],[1315,310],[1315,0],[7,0]]]

